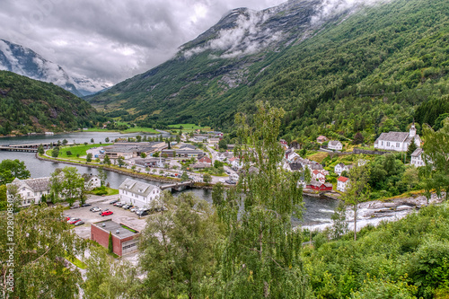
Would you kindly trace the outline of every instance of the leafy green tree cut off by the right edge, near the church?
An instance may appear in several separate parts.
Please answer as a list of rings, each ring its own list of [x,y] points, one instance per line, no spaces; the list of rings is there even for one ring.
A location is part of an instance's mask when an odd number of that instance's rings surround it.
[[[427,165],[426,183],[436,190],[438,197],[445,190],[445,199],[449,198],[449,119],[444,120],[443,128],[434,131],[429,126],[423,130],[424,161]]]

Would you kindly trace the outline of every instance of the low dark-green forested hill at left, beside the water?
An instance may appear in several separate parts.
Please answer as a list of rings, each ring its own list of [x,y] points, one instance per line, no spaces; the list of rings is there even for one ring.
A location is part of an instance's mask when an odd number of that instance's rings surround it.
[[[74,130],[105,120],[88,102],[55,84],[0,71],[0,135]]]

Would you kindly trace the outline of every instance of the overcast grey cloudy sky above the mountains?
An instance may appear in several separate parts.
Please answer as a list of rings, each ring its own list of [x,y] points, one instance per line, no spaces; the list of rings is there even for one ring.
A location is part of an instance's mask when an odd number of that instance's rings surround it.
[[[0,39],[112,84],[173,57],[233,8],[286,0],[0,0]]]

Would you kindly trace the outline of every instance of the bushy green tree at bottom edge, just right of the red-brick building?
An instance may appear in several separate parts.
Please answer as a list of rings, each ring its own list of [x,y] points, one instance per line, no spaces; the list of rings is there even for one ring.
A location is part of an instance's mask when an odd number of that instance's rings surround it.
[[[143,295],[152,298],[212,295],[204,290],[204,285],[216,276],[215,249],[220,237],[216,215],[205,200],[192,193],[174,198],[165,192],[159,205],[168,210],[149,217],[140,237],[139,261],[146,271]]]

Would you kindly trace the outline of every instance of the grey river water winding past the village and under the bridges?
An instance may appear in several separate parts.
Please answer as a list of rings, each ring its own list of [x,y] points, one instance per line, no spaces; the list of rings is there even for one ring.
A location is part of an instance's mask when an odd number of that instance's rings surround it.
[[[132,134],[120,134],[114,132],[79,132],[79,133],[67,133],[58,134],[54,136],[21,136],[21,137],[5,137],[0,138],[0,145],[19,145],[19,144],[40,144],[55,142],[60,140],[61,142],[66,139],[69,143],[75,142],[77,144],[83,144],[84,142],[91,142],[91,139],[98,142],[105,142],[105,138],[109,137],[110,140],[114,140],[118,137],[136,136],[142,134],[132,133]],[[151,135],[147,135],[151,136]],[[163,134],[164,137],[168,136]],[[28,170],[31,172],[31,178],[47,177],[57,168],[62,168],[67,166],[64,163],[53,163],[48,161],[41,161],[35,158],[34,153],[24,153],[24,152],[6,152],[0,151],[0,161],[5,159],[18,159],[25,163]],[[73,165],[70,165],[73,166]],[[74,166],[80,173],[92,173],[98,174],[96,168],[84,167],[84,166]],[[128,176],[119,174],[116,172],[108,171],[108,182],[110,187],[118,189],[119,185],[128,178]],[[161,185],[161,183],[153,180],[144,180],[133,178],[133,180],[141,180],[154,185]],[[197,197],[204,198],[208,202],[212,202],[211,190],[209,189],[189,189],[186,190],[193,192]],[[335,207],[338,203],[335,200],[329,199],[318,199],[304,196],[304,215],[303,221],[295,221],[297,224],[330,224],[330,215],[332,215]]]

